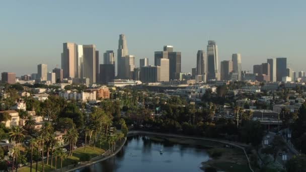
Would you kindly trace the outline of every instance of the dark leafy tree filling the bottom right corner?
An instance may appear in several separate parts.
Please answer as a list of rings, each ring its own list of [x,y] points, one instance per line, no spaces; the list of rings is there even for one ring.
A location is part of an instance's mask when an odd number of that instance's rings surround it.
[[[288,172],[304,172],[306,171],[306,155],[294,155],[286,163],[286,170]]]

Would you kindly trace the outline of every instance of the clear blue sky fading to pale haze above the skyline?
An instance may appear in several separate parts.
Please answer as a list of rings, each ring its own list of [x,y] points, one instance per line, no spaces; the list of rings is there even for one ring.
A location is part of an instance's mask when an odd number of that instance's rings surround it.
[[[219,59],[242,54],[243,69],[287,57],[294,71],[305,70],[306,1],[2,1],[0,72],[37,72],[37,64],[58,64],[63,42],[96,44],[117,57],[119,34],[129,54],[148,57],[173,45],[182,52],[182,71],[195,67],[197,50],[215,40]],[[116,59],[117,60],[117,59]],[[219,61],[219,62],[220,62]]]

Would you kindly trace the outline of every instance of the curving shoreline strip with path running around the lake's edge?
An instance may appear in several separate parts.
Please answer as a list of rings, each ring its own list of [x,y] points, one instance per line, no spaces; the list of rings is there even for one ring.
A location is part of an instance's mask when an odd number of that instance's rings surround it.
[[[240,149],[243,150],[243,152],[244,152],[244,154],[246,156],[246,159],[248,161],[248,166],[249,166],[250,170],[254,172],[254,170],[252,169],[251,164],[250,164],[250,159],[249,159],[249,157],[248,157],[248,155],[246,153],[246,150],[244,148],[244,146],[247,146],[246,144],[238,143],[238,142],[231,142],[231,141],[226,141],[226,140],[220,140],[220,139],[213,139],[213,138],[193,137],[193,136],[185,136],[185,135],[179,135],[179,134],[167,134],[167,133],[159,133],[159,132],[151,132],[151,131],[141,131],[141,130],[132,130],[132,131],[129,131],[127,136],[125,137],[125,140],[124,140],[123,144],[113,154],[111,154],[109,156],[106,156],[104,158],[97,159],[97,160],[85,163],[83,165],[80,165],[80,166],[68,169],[68,170],[64,170],[64,171],[65,172],[70,172],[70,171],[78,170],[80,168],[84,168],[86,166],[93,165],[95,163],[107,160],[107,159],[113,157],[114,155],[116,155],[122,149],[122,147],[124,146],[124,144],[125,144],[125,142],[127,140],[127,137],[134,136],[134,135],[139,135],[139,134],[165,136],[165,137],[187,138],[187,139],[195,139],[195,140],[206,140],[206,141],[212,141],[212,142],[219,142],[219,143],[223,143],[223,144],[230,144],[232,146],[235,146],[235,147],[240,148]],[[94,157],[93,159],[95,159],[95,158],[97,158],[97,157]]]

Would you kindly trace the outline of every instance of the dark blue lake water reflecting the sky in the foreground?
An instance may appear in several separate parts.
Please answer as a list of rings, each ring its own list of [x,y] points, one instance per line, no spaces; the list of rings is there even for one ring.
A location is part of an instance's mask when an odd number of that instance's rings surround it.
[[[200,169],[201,162],[209,159],[204,148],[159,141],[151,137],[128,137],[118,154],[77,171],[203,171]]]

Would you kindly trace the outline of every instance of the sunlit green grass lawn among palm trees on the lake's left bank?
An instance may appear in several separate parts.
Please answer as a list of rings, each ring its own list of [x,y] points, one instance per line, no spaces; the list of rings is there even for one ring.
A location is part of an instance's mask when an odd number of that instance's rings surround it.
[[[85,154],[88,154],[91,158],[93,158],[93,157],[101,155],[104,152],[105,152],[104,149],[100,149],[98,147],[96,147],[94,149],[94,147],[92,147],[92,146],[86,146],[86,152],[84,152],[84,147],[79,147],[79,148],[77,148],[73,151],[72,156],[68,156],[66,159],[63,159],[63,170],[66,169],[65,167],[67,165],[74,164],[75,162],[79,162],[80,157],[84,156]],[[68,151],[67,151],[67,153],[68,153]],[[60,168],[60,158],[57,158],[56,161],[57,161],[56,162],[57,169],[59,169]],[[49,164],[44,165],[45,166],[45,171],[46,172],[53,171],[54,170],[54,165],[55,165],[55,157],[53,157],[53,168],[51,169],[51,156],[49,156]],[[34,169],[32,169],[32,171],[33,170],[35,171],[35,167],[36,167],[36,163],[33,163],[33,168]],[[42,169],[42,164],[41,164],[41,162],[39,162],[38,163],[38,171],[41,171],[41,169]],[[18,168],[18,171],[28,172],[28,171],[30,171],[30,166],[24,166],[24,167]]]

